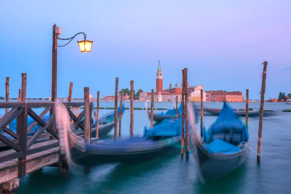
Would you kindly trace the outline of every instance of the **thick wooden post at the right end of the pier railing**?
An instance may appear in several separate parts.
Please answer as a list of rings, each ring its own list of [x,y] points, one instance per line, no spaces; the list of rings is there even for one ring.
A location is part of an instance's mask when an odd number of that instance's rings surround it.
[[[90,100],[89,100],[89,88],[88,87],[84,87],[84,139],[85,141],[87,141],[88,144],[90,144],[91,142],[91,138],[90,138]]]

